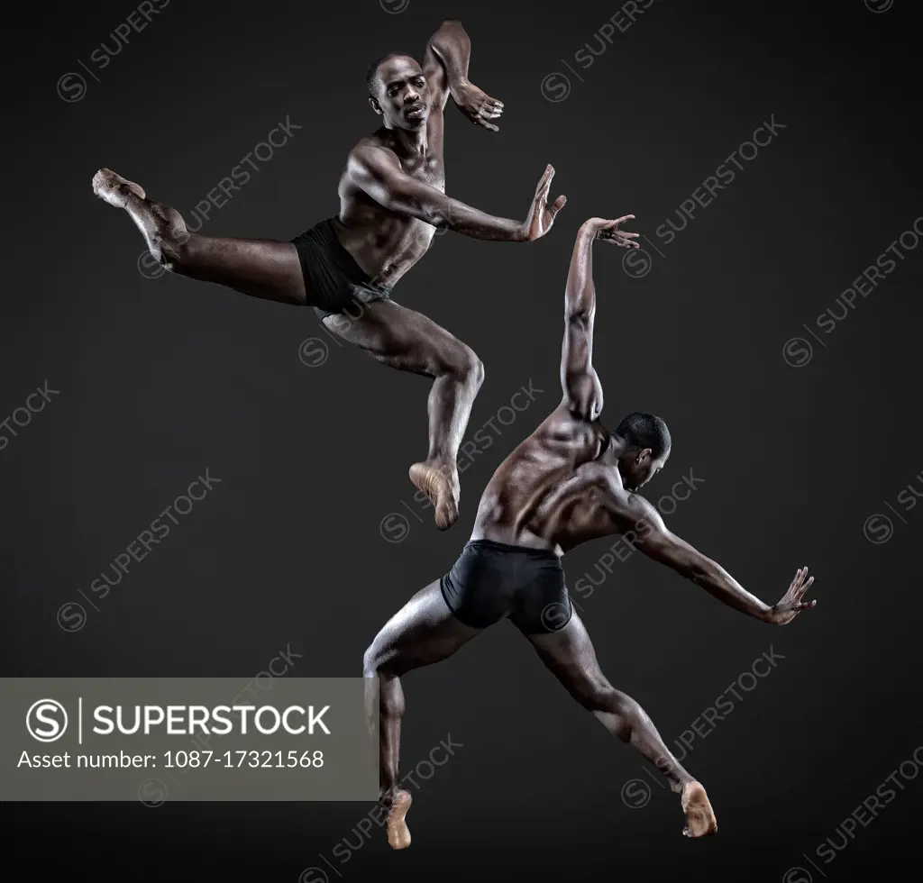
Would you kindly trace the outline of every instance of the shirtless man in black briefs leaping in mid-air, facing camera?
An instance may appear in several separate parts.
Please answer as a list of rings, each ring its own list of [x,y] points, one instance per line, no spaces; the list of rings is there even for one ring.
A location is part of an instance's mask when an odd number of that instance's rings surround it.
[[[93,178],[96,195],[126,209],[163,267],[255,297],[313,305],[330,331],[378,362],[433,378],[429,451],[410,477],[433,503],[439,530],[458,519],[456,458],[484,366],[432,319],[392,301],[391,289],[426,254],[437,227],[474,239],[534,242],[567,201],[557,197],[548,205],[550,165],[525,221],[495,218],[446,196],[442,128],[450,96],[468,119],[493,132],[497,125],[489,121],[503,112],[502,102],[469,82],[470,57],[461,22],[446,21],[430,39],[422,67],[401,54],[371,66],[369,103],[383,125],[349,154],[339,217],[290,243],[189,233],[176,209],[148,199],[140,185],[109,169]],[[348,313],[351,305],[357,309]]]

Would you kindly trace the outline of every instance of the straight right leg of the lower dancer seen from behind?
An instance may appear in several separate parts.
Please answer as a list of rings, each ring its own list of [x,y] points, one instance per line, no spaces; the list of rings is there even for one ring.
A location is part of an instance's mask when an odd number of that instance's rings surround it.
[[[593,642],[576,611],[560,631],[528,638],[539,658],[569,694],[583,708],[592,711],[609,733],[628,742],[664,774],[670,788],[680,795],[686,813],[687,827],[683,833],[688,837],[713,834],[717,823],[705,789],[680,766],[641,706],[605,679],[596,661]]]

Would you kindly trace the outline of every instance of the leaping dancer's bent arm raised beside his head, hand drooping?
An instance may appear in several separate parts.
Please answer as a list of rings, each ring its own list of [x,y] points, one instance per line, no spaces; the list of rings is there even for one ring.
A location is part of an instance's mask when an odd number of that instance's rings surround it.
[[[503,102],[491,98],[468,79],[471,62],[471,40],[462,28],[462,22],[450,19],[430,38],[426,46],[423,70],[426,79],[438,89],[440,106],[452,101],[475,125],[497,132],[497,125],[488,122],[503,113]]]

